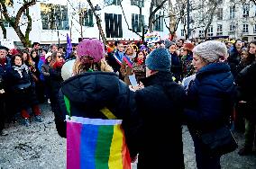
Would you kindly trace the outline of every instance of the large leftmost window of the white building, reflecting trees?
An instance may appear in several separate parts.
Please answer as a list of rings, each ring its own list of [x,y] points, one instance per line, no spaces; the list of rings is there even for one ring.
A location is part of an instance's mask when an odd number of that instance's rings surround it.
[[[42,30],[69,30],[67,6],[41,3],[41,23]]]

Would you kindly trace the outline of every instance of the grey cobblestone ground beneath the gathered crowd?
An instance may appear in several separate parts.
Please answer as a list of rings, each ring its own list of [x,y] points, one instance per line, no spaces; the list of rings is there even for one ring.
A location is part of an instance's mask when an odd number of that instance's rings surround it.
[[[1,169],[64,169],[66,168],[66,140],[60,138],[53,121],[50,106],[41,104],[44,121],[34,122],[29,128],[17,123],[7,128],[9,135],[0,136],[0,168]],[[240,147],[242,134],[235,133]],[[196,167],[193,142],[187,131],[183,129],[185,164],[187,169]],[[255,169],[256,156],[238,156],[237,150],[222,157],[225,169]],[[136,163],[133,169],[136,169]]]

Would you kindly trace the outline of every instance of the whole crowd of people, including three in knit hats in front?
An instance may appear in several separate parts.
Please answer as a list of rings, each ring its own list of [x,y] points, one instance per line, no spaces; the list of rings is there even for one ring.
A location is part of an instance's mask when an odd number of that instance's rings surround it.
[[[207,154],[198,133],[234,125],[245,132],[238,154],[253,152],[255,57],[255,40],[116,41],[113,47],[86,39],[69,55],[56,44],[41,49],[35,42],[25,50],[1,46],[1,135],[8,134],[5,122],[16,122],[17,114],[27,127],[32,115],[41,122],[42,102],[50,103],[63,138],[69,133],[66,115],[109,120],[101,111],[107,109],[112,117],[123,120],[132,161],[139,155],[138,168],[184,168],[184,124],[194,141],[197,168],[221,168],[221,156]],[[71,60],[69,76],[64,77],[67,67],[62,67]],[[187,79],[187,86],[182,86]]]

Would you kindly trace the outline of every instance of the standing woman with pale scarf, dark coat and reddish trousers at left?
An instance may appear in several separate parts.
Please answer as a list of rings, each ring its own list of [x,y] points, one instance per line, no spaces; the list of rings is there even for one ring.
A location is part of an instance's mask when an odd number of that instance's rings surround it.
[[[35,120],[41,122],[41,110],[35,94],[32,73],[26,65],[23,64],[23,58],[15,55],[11,59],[12,67],[7,70],[6,83],[10,96],[9,102],[15,102],[14,113],[21,112],[25,126],[29,126],[28,108],[32,107],[35,114]]]

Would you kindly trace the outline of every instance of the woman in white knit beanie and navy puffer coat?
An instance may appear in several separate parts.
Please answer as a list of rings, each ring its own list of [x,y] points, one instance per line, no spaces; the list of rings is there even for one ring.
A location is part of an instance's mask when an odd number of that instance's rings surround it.
[[[233,76],[230,67],[219,62],[226,53],[224,44],[215,40],[203,42],[193,49],[192,64],[197,75],[188,87],[185,118],[194,141],[198,169],[221,168],[221,156],[209,155],[199,133],[228,125],[233,112]]]

